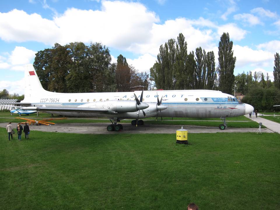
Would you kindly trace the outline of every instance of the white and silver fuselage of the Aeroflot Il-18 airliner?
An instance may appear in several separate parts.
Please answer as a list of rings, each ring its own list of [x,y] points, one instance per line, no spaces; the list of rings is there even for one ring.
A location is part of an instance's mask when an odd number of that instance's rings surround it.
[[[55,93],[44,92],[41,96],[28,97],[22,102],[30,102],[35,107],[103,107],[106,109],[122,108],[122,101],[134,100],[134,93],[140,98],[141,91],[135,92],[108,92],[108,93]],[[162,117],[190,117],[190,118],[219,118],[245,115],[253,111],[248,104],[239,103],[229,94],[213,90],[160,90],[144,91],[143,102],[149,104],[144,109],[147,117],[157,113],[157,96],[162,97],[162,104],[167,108]],[[125,106],[127,103],[123,103]],[[115,110],[115,109],[114,109]],[[125,109],[124,109],[125,110]],[[108,118],[135,119],[135,112],[106,112],[106,113],[78,113],[46,111],[47,113],[64,116],[105,116]],[[145,118],[140,111],[139,118]]]

